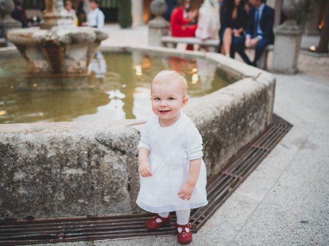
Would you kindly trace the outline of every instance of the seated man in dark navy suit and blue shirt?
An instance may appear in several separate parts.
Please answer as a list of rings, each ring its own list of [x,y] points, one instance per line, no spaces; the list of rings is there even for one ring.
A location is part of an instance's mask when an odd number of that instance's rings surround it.
[[[265,5],[264,0],[250,0],[253,6],[249,12],[246,35],[236,39],[233,46],[245,63],[256,66],[265,47],[274,43],[274,9]],[[245,48],[255,48],[255,57],[251,62]]]

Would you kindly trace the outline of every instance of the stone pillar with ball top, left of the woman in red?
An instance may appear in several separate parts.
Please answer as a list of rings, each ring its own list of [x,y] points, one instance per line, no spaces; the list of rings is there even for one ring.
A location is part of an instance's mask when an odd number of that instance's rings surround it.
[[[167,10],[165,0],[153,0],[150,4],[151,13],[156,17],[149,22],[149,45],[162,46],[160,38],[169,33],[170,24],[161,15]]]

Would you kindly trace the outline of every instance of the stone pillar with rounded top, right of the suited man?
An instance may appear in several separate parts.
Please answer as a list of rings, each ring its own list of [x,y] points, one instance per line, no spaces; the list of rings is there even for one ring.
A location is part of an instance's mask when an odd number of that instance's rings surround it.
[[[282,5],[287,20],[274,31],[273,72],[286,74],[298,72],[297,60],[303,31],[297,25],[296,17],[303,6],[303,0],[286,0]]]

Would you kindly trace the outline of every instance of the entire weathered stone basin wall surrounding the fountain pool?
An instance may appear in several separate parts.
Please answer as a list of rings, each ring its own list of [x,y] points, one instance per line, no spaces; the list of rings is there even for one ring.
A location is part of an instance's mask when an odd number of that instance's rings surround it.
[[[203,56],[243,78],[184,108],[203,136],[209,176],[270,124],[275,78],[219,54],[176,55]],[[143,123],[0,125],[0,219],[139,211],[137,145]]]

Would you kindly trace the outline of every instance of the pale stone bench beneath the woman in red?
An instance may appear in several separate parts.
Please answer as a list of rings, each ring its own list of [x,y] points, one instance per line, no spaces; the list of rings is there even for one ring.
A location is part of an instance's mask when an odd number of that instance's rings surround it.
[[[200,45],[208,48],[208,51],[216,52],[218,44],[220,43],[219,39],[206,39],[202,40],[197,37],[173,37],[173,36],[162,36],[161,44],[163,47],[176,48],[178,43],[184,43],[188,45]]]

